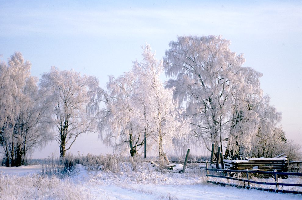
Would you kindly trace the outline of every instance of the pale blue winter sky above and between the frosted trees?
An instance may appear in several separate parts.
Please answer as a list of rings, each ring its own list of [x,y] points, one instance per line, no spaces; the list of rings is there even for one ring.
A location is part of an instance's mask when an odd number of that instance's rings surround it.
[[[282,112],[288,139],[302,144],[302,1],[4,1],[0,0],[0,59],[20,51],[40,77],[51,66],[99,78],[122,75],[146,42],[161,59],[171,40],[219,35],[244,53],[244,66],[263,73],[261,88]],[[110,152],[97,134],[71,152]],[[59,155],[52,142],[34,158]]]

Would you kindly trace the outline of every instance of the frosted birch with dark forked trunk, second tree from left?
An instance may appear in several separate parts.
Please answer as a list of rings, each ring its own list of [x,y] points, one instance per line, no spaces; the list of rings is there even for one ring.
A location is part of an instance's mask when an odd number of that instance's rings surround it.
[[[52,67],[42,75],[40,86],[46,95],[45,103],[52,107],[50,114],[57,128],[54,139],[59,144],[61,157],[79,135],[95,130],[95,115],[88,112],[87,106],[91,101],[89,89],[96,85],[95,77],[82,76],[74,70],[60,71]]]

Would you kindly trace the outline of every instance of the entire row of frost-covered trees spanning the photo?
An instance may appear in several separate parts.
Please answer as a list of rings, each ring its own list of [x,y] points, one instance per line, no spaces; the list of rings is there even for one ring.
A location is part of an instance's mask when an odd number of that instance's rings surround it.
[[[38,82],[30,75],[31,64],[15,53],[0,63],[6,166],[20,166],[27,152],[52,139],[64,157],[85,132],[99,132],[116,152],[152,151],[160,160],[171,149],[210,150],[212,143],[224,148],[226,158],[275,156],[289,149],[276,127],[281,113],[262,94],[262,74],[243,67],[243,55],[230,51],[229,44],[221,36],[178,37],[161,61],[146,45],[142,61],[123,75],[109,76],[106,89],[93,76],[55,67]],[[165,83],[163,72],[170,78]]]

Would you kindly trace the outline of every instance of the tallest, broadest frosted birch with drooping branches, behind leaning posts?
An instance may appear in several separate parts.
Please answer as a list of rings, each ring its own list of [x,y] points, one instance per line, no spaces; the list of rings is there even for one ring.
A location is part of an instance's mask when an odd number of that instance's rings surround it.
[[[191,135],[202,138],[208,150],[228,137],[232,86],[242,84],[237,73],[244,58],[229,44],[221,36],[178,37],[164,57],[166,75],[174,78],[167,85],[175,87],[174,98],[186,106]]]

